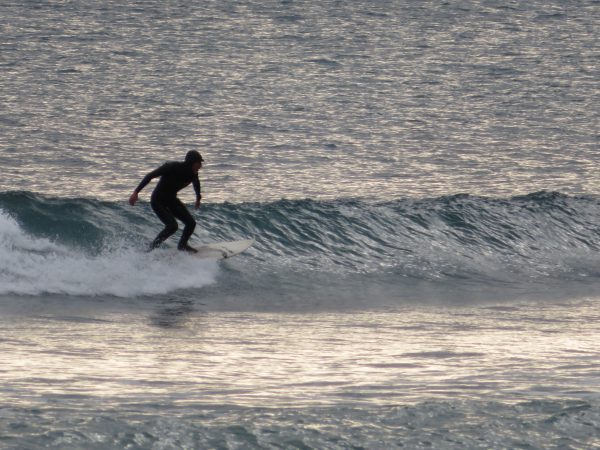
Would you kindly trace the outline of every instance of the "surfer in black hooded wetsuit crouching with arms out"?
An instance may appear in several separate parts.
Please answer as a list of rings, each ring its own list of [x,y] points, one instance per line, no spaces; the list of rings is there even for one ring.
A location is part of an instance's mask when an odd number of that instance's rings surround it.
[[[200,153],[196,150],[190,150],[185,155],[185,161],[167,162],[146,175],[135,191],[133,191],[131,197],[129,197],[129,204],[131,206],[135,205],[139,192],[150,183],[150,180],[160,177],[158,184],[152,192],[150,205],[158,218],[165,224],[165,228],[152,241],[150,250],[158,247],[177,231],[177,221],[175,219],[179,219],[185,226],[177,248],[196,253],[196,249],[188,245],[188,240],[196,228],[196,220],[185,205],[181,203],[181,200],[177,198],[177,192],[192,183],[194,191],[196,191],[196,209],[200,207],[202,195],[200,194],[198,170],[202,167],[203,161],[204,159],[202,159]]]

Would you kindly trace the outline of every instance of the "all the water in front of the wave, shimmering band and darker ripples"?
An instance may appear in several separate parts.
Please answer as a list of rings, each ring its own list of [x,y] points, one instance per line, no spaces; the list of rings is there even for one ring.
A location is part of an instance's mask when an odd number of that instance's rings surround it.
[[[599,319],[589,301],[299,314],[20,299],[2,306],[0,445],[593,448]]]

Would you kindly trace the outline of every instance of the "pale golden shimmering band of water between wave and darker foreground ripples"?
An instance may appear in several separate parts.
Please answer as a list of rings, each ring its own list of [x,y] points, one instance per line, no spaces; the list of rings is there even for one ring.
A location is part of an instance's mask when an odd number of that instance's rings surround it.
[[[0,400],[396,405],[600,388],[591,301],[319,313],[208,312],[195,301],[70,307],[2,314]]]

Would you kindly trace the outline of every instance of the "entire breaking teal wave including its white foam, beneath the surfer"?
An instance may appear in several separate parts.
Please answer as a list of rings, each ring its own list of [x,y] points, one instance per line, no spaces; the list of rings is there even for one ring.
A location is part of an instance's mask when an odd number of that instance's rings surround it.
[[[225,270],[263,293],[314,283],[600,280],[592,196],[280,200],[209,204],[195,214],[201,241],[256,237]],[[223,271],[214,262],[145,253],[160,228],[144,203],[1,193],[0,293],[131,296],[214,284]]]

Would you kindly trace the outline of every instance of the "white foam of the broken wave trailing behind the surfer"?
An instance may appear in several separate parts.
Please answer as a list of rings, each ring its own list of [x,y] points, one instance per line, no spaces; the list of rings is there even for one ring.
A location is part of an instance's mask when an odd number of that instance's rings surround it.
[[[214,261],[178,252],[147,254],[123,247],[90,256],[29,236],[0,211],[0,294],[166,294],[211,284],[217,271]]]

